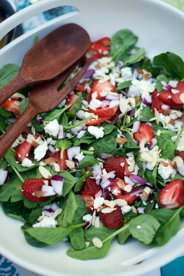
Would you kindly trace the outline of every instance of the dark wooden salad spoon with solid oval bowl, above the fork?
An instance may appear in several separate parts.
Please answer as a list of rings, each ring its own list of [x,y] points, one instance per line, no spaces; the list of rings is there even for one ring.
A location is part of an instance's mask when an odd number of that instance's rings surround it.
[[[86,53],[89,45],[88,33],[73,23],[46,35],[26,52],[18,75],[0,90],[0,105],[22,88],[64,72]]]

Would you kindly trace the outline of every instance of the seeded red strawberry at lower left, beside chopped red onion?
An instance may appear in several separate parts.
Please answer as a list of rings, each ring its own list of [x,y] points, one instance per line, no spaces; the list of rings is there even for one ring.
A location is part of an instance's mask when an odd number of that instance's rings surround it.
[[[22,194],[23,196],[32,201],[47,201],[49,199],[49,196],[42,196],[41,188],[42,185],[45,185],[44,181],[46,179],[44,177],[42,178],[30,178],[26,179],[24,183],[22,184]],[[40,193],[40,196],[34,195],[35,192]]]

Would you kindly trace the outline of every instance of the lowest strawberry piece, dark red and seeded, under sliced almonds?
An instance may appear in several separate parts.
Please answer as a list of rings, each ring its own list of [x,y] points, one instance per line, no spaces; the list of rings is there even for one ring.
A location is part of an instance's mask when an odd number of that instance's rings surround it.
[[[100,220],[105,227],[118,228],[123,226],[123,217],[121,215],[121,208],[117,205],[114,206],[116,210],[110,213],[99,213]]]

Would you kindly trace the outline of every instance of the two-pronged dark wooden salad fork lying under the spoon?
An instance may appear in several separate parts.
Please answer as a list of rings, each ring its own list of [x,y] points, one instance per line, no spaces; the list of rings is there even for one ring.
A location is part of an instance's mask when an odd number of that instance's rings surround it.
[[[66,98],[66,96],[72,91],[75,85],[82,78],[83,74],[93,60],[94,59],[91,58],[60,91],[58,91],[59,86],[74,71],[77,63],[73,64],[51,83],[46,82],[42,84],[36,84],[32,88],[29,95],[29,104],[27,108],[0,139],[0,159],[13,145],[15,140],[19,137],[29,122],[34,117],[36,117],[36,115],[54,109],[59,103],[63,101],[63,99]]]

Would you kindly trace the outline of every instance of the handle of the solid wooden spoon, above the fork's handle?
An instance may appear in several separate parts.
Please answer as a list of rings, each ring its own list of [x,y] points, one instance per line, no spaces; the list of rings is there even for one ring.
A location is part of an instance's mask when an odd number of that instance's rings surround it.
[[[26,85],[27,82],[21,79],[21,73],[19,72],[19,74],[9,84],[0,89],[0,105],[6,102],[7,99]]]

